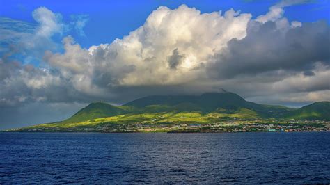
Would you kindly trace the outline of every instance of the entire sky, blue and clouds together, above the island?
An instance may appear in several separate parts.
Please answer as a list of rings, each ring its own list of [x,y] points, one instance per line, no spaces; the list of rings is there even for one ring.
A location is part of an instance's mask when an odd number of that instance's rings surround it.
[[[0,4],[0,129],[147,95],[330,101],[329,1]]]

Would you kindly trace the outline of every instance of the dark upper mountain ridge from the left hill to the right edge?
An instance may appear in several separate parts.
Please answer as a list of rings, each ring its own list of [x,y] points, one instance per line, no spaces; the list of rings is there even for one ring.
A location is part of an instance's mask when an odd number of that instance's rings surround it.
[[[317,102],[313,104],[317,106]],[[325,104],[324,106],[329,106],[329,102],[324,102],[323,104]],[[311,114],[310,116],[307,116],[305,109],[311,105],[312,104],[301,107],[304,109],[301,111],[300,108],[256,104],[254,102],[246,101],[243,97],[240,97],[235,93],[222,90],[220,93],[209,92],[201,95],[150,95],[127,102],[122,106],[113,106],[105,102],[93,102],[88,104],[88,106],[81,108],[80,111],[63,122],[81,122],[127,113],[160,113],[171,111],[196,111],[201,112],[202,114],[212,112],[239,113],[239,110],[242,108],[253,111],[258,115],[258,118],[330,119],[327,114],[328,112],[316,113],[320,116],[315,116],[315,113],[314,115]],[[320,108],[316,108],[315,110],[322,112]],[[327,111],[329,110],[327,109]],[[304,113],[306,116],[301,116],[299,113]]]

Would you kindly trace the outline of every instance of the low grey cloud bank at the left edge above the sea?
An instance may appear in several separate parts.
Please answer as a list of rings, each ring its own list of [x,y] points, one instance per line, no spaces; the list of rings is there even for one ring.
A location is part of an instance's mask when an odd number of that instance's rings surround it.
[[[93,102],[95,99],[106,99],[72,88],[70,81],[56,70],[1,59],[0,87],[0,107],[24,106],[32,102]]]

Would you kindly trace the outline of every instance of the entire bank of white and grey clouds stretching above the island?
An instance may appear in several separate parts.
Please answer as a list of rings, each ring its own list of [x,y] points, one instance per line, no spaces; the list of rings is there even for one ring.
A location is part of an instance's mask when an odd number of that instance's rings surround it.
[[[256,19],[233,9],[202,14],[185,5],[162,6],[138,29],[109,44],[85,49],[65,36],[63,52],[42,50],[43,68],[3,54],[0,104],[120,103],[219,88],[266,103],[330,100],[329,25],[288,22],[283,8],[292,3],[301,1],[282,1]],[[29,34],[34,38],[53,43],[52,35],[68,29],[61,15],[47,8],[33,11],[33,17],[38,26]],[[74,28],[82,31],[85,24]]]

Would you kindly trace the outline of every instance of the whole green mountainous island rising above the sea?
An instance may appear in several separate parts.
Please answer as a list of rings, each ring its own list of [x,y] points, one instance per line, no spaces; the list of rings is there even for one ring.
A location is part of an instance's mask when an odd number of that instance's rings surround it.
[[[123,106],[94,102],[62,122],[38,124],[13,131],[180,131],[182,128],[189,129],[191,124],[207,124],[208,126],[201,127],[206,130],[212,127],[212,131],[237,131],[244,130],[239,125],[251,123],[251,130],[262,131],[269,127],[270,122],[276,126],[288,124],[288,119],[301,120],[301,127],[306,124],[304,120],[330,120],[330,102],[288,108],[248,102],[225,90],[202,95],[153,95]],[[214,124],[218,126],[215,127]],[[255,124],[267,125],[259,128],[253,126]],[[320,128],[320,124],[324,123],[311,124]],[[308,124],[306,128],[311,128],[310,126]]]

